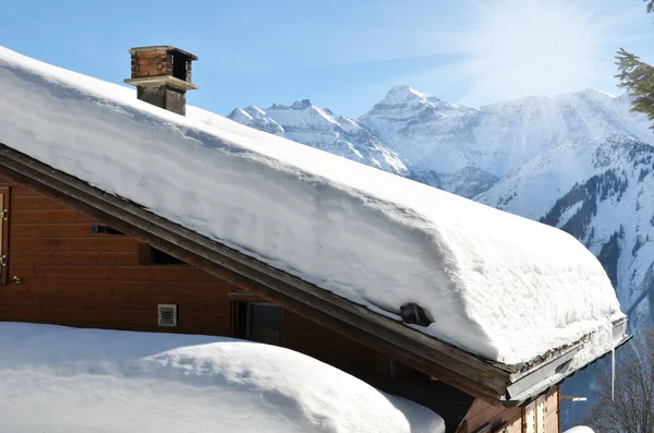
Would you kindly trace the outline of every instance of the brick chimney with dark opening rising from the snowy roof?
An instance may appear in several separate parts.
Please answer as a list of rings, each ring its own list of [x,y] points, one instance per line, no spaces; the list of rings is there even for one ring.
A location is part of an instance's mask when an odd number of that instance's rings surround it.
[[[186,115],[186,91],[191,83],[191,62],[196,56],[169,46],[136,47],[132,55],[132,77],[126,84],[136,86],[136,97],[166,110]]]

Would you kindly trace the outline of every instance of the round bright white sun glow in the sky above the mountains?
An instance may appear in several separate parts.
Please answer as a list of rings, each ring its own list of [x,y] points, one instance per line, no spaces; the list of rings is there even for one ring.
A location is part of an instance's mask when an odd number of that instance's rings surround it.
[[[484,15],[474,35],[474,62],[494,71],[495,83],[524,95],[549,93],[592,72],[588,59],[600,35],[573,8],[520,1]]]

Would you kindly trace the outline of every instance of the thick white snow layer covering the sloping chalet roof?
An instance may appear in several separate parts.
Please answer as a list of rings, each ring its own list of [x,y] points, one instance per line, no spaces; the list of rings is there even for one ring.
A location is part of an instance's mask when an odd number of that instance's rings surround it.
[[[419,330],[487,359],[602,329],[581,364],[623,316],[558,229],[7,49],[0,100],[0,142],[353,302],[391,316],[415,302],[434,318]]]

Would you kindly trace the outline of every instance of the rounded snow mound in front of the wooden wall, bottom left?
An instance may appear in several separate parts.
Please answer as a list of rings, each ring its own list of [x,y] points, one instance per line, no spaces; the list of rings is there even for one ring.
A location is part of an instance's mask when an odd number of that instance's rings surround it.
[[[0,323],[0,431],[444,432],[443,419],[292,350]]]

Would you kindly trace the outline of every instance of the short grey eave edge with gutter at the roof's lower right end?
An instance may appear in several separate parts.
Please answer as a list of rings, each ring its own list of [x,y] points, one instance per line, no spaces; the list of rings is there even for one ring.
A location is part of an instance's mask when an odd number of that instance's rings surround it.
[[[622,346],[629,341],[633,334],[627,334],[627,317],[613,324],[613,349]],[[593,334],[584,336],[576,344],[561,348],[550,360],[540,363],[536,366],[511,374],[511,384],[507,386],[507,394],[502,399],[506,406],[520,406],[549,389],[567,377],[573,375],[577,371],[583,370],[597,360],[604,358],[610,352],[606,351],[595,359],[580,366],[572,366],[574,356],[584,349],[584,346],[591,342]]]

